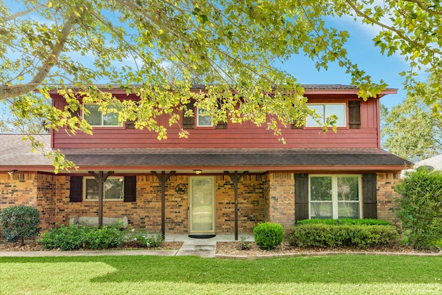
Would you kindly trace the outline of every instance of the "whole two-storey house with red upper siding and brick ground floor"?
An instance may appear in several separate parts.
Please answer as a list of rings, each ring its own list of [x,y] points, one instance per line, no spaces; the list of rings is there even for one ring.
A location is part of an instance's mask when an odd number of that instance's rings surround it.
[[[322,133],[307,120],[307,126],[282,130],[287,144],[249,122],[212,126],[198,110],[181,122],[193,129],[189,138],[179,138],[171,127],[169,139],[159,141],[89,105],[93,135],[41,135],[77,171],[55,175],[50,160],[30,154],[21,135],[0,135],[0,208],[37,207],[43,230],[73,216],[127,216],[129,225],[147,231],[236,238],[265,221],[286,227],[306,218],[397,222],[392,187],[411,163],[381,149],[379,124],[379,99],[396,90],[367,102],[357,92],[353,86],[305,85],[309,107],[338,115],[338,133]],[[56,93],[52,99],[57,108],[66,105]],[[99,202],[96,178],[106,175]]]

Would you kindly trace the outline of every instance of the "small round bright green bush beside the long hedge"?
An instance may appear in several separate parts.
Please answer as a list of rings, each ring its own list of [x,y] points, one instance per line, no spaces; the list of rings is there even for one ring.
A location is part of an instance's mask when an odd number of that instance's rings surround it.
[[[253,228],[253,236],[260,249],[275,249],[284,239],[284,228],[278,223],[260,223]]]

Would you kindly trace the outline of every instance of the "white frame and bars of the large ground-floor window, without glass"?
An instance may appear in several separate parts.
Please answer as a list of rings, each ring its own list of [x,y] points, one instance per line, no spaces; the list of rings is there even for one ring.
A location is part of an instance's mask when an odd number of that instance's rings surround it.
[[[357,201],[339,201],[338,200],[338,177],[358,177],[358,200]],[[332,178],[332,201],[311,201],[311,178],[312,177],[331,177]],[[310,174],[309,175],[309,219],[311,216],[311,203],[316,202],[332,202],[332,218],[338,219],[338,203],[339,202],[354,202],[358,203],[359,218],[363,218],[363,194],[362,194],[362,175],[361,174]]]

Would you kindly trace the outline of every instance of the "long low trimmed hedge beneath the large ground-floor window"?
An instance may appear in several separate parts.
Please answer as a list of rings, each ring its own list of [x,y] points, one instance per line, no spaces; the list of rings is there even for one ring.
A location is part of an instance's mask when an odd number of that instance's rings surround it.
[[[392,225],[325,225],[310,224],[286,231],[290,245],[296,247],[368,247],[392,246],[400,241],[398,229]]]

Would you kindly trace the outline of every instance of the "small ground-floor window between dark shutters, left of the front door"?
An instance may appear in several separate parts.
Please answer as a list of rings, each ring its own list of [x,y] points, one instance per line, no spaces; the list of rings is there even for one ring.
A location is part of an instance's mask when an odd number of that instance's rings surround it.
[[[93,177],[84,178],[84,200],[98,200],[98,182]],[[124,199],[124,177],[108,177],[104,182],[103,200]]]

